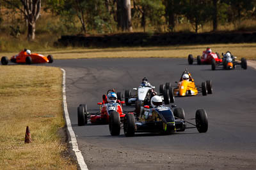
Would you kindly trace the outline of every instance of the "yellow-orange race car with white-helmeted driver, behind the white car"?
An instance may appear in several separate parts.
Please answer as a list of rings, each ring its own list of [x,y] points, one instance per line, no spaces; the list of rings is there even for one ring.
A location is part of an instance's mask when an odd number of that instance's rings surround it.
[[[160,93],[168,93],[170,99],[174,96],[195,96],[201,92],[203,96],[212,94],[212,81],[207,80],[206,82],[202,82],[202,86],[195,85],[195,81],[191,73],[188,72],[188,69],[182,73],[179,83],[177,81],[175,83],[177,83],[177,86],[171,86],[170,83],[160,85]]]

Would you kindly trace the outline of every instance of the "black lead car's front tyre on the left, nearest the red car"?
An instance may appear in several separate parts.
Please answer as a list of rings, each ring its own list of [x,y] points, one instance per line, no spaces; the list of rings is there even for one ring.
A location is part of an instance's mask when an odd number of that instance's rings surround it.
[[[128,113],[124,117],[124,134],[126,137],[131,137],[135,134],[135,118],[132,113]]]

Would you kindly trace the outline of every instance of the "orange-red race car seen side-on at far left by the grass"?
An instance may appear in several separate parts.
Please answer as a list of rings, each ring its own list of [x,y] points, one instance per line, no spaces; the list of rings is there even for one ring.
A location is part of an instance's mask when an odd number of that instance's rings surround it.
[[[42,54],[31,53],[30,50],[24,49],[19,54],[13,55],[10,61],[17,64],[52,63],[53,57],[52,55],[45,57]],[[8,62],[8,57],[3,56],[1,58],[2,65],[7,65]]]

